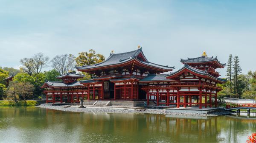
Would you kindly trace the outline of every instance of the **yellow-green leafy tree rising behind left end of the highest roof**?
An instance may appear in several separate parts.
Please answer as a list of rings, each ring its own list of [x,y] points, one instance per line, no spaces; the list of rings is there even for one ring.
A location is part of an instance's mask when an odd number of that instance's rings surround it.
[[[76,58],[76,65],[83,66],[83,65],[90,65],[90,64],[97,64],[105,60],[105,56],[101,54],[96,54],[95,50],[90,49],[88,52],[81,52],[79,56]]]

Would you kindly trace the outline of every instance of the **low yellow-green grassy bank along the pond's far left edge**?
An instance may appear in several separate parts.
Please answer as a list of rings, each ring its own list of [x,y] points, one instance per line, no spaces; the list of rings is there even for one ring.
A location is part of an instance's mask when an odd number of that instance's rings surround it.
[[[26,100],[25,101],[11,101],[11,100],[2,100],[0,101],[0,106],[36,106],[38,105],[37,101]]]

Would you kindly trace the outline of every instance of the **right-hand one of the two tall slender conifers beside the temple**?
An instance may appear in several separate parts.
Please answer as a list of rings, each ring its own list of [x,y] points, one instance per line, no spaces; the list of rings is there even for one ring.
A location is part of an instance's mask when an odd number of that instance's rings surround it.
[[[239,73],[242,72],[241,66],[239,64],[239,58],[238,56],[235,56],[233,59],[233,85],[234,85],[234,91],[233,93],[236,95],[236,98],[238,97],[238,79],[237,76]]]

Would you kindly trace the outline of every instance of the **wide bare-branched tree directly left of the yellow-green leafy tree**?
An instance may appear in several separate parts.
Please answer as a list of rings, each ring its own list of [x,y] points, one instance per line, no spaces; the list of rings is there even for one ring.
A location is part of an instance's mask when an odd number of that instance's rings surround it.
[[[52,59],[52,68],[61,74],[68,73],[69,70],[74,70],[76,66],[76,57],[72,54],[57,55]]]

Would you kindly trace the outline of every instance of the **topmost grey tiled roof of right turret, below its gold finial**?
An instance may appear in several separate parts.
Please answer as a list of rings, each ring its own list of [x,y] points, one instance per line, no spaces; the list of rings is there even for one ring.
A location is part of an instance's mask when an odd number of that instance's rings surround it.
[[[213,56],[212,57],[200,56],[197,58],[180,59],[180,62],[184,62],[184,63],[212,62],[212,61],[217,61],[219,64],[221,64],[221,62],[218,61],[217,56],[215,58],[213,58]],[[226,66],[226,64],[221,64],[221,65]]]

